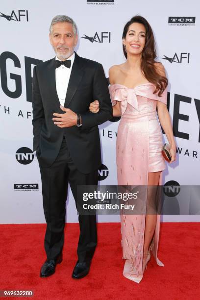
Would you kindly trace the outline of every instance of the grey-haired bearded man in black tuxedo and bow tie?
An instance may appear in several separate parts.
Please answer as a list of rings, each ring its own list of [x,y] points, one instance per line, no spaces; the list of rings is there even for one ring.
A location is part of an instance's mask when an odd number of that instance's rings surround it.
[[[79,57],[75,22],[56,16],[50,25],[55,58],[33,71],[33,149],[42,178],[43,206],[47,222],[47,260],[40,272],[47,277],[62,262],[68,182],[76,205],[78,185],[97,185],[101,165],[98,125],[112,117],[112,105],[102,66]],[[89,111],[98,99],[100,111]],[[81,205],[81,203],[79,203]],[[88,274],[97,245],[95,215],[79,215],[78,261],[72,277]]]

